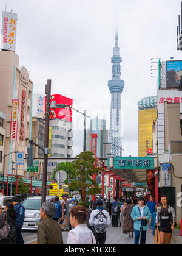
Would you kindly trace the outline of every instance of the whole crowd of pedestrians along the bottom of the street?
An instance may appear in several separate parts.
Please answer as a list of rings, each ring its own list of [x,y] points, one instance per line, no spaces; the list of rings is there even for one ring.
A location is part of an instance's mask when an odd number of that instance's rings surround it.
[[[47,201],[42,204],[38,244],[62,244],[62,231],[65,230],[69,230],[67,244],[104,244],[110,224],[122,226],[121,232],[129,238],[135,235],[135,244],[146,243],[149,227],[155,244],[170,244],[175,211],[167,202],[166,196],[161,196],[160,204],[154,201],[153,196],[149,202],[141,196],[114,197],[113,202],[99,197],[90,201],[86,208],[77,205],[75,198],[68,201],[66,194],[61,201],[55,197],[54,203]],[[21,234],[24,218],[25,209],[18,197],[13,197],[12,203],[5,203],[4,212],[0,207],[0,244],[24,243]]]

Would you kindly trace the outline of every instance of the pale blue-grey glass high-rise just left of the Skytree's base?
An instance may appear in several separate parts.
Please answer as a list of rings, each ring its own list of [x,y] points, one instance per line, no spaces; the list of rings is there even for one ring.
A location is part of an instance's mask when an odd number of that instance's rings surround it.
[[[92,119],[90,120],[90,129],[87,130],[86,151],[91,149],[91,134],[97,134],[97,157],[105,158],[110,153],[110,146],[104,146],[104,142],[108,142],[108,130],[106,129],[106,120]]]

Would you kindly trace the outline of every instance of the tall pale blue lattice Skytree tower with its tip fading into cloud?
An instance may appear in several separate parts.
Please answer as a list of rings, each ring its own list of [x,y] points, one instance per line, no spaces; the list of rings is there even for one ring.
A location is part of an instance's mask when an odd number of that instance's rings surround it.
[[[108,81],[108,87],[111,93],[111,106],[110,106],[110,130],[109,142],[111,144],[111,153],[114,155],[121,155],[121,93],[124,88],[124,81],[120,79],[122,59],[120,57],[120,48],[118,47],[118,34],[115,35],[115,47],[113,48],[112,62],[112,80]]]

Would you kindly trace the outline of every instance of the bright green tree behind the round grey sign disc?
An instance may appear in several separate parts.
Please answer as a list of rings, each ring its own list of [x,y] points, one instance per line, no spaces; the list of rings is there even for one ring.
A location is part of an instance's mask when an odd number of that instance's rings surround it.
[[[65,171],[67,173],[67,179],[65,180],[65,184],[68,185],[68,179],[72,180],[76,177],[76,171],[72,167],[72,162],[61,162],[59,165],[54,169],[52,174],[52,179],[55,180],[56,172],[58,171]]]

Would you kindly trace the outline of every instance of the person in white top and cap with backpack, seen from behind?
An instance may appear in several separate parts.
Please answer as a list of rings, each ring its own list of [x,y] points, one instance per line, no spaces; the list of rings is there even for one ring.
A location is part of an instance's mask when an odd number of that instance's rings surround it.
[[[95,235],[96,244],[104,244],[106,241],[106,227],[110,225],[109,213],[103,208],[103,200],[96,201],[97,208],[93,210],[89,224],[93,226],[93,234]]]

